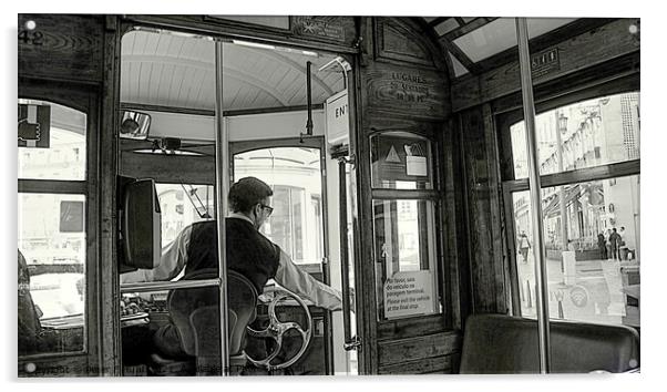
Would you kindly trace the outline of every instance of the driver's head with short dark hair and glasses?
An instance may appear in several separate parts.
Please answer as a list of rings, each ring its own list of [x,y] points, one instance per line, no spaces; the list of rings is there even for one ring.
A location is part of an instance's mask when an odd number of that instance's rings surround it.
[[[271,188],[261,179],[245,177],[232,185],[227,198],[232,212],[247,216],[259,229],[274,212],[269,205],[273,195]]]

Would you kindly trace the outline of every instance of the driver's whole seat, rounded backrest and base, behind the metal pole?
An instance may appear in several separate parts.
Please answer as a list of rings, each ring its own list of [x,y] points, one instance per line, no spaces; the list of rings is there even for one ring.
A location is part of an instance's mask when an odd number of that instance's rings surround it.
[[[183,280],[212,279],[217,276],[216,269],[202,269],[189,274]],[[246,364],[243,352],[245,330],[248,323],[255,320],[257,297],[255,286],[246,277],[232,270],[227,271],[229,374],[238,374]],[[193,368],[197,375],[222,373],[218,301],[217,287],[175,289],[170,292],[167,306],[172,321],[178,330],[183,350],[192,355],[193,360],[172,360],[153,354],[153,373],[168,375],[173,374],[171,370],[185,369],[176,373],[187,374],[193,372]]]

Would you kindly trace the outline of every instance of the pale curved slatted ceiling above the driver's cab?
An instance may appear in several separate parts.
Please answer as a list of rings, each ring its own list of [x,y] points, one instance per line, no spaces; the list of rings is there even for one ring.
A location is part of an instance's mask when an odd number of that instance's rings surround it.
[[[306,70],[312,63],[312,103],[343,89],[340,70],[321,66],[336,56],[270,45],[224,43],[225,110],[265,110],[307,104]],[[215,110],[215,43],[165,31],[131,31],[121,51],[121,102]]]

